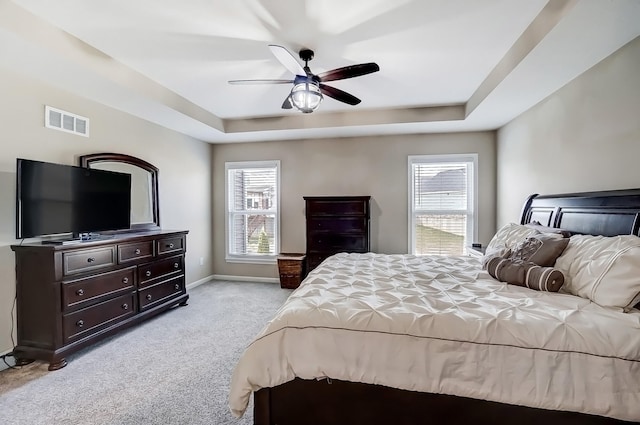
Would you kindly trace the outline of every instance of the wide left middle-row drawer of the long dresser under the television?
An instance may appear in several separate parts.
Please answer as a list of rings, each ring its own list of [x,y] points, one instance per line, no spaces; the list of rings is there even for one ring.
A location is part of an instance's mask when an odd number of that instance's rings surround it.
[[[63,282],[62,309],[67,311],[91,304],[100,297],[132,291],[135,284],[135,272],[135,267],[128,267],[86,279]]]

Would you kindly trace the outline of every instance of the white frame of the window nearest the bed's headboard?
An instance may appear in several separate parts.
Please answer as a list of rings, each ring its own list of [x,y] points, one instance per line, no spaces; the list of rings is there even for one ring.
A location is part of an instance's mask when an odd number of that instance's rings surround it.
[[[408,234],[408,251],[413,255],[426,255],[426,254],[416,254],[416,232],[415,232],[415,216],[418,212],[424,213],[425,211],[431,210],[418,210],[415,208],[415,187],[414,187],[414,175],[413,175],[413,165],[414,164],[444,164],[444,163],[460,163],[466,162],[471,163],[473,168],[471,175],[467,176],[467,179],[471,178],[471,184],[467,186],[467,190],[469,186],[471,186],[471,196],[467,195],[467,210],[466,214],[471,216],[471,219],[467,220],[467,231],[465,235],[465,239],[467,236],[471,239],[467,241],[465,246],[463,247],[463,255],[467,253],[467,251],[471,248],[471,244],[478,239],[478,154],[477,153],[462,153],[462,154],[444,154],[444,155],[409,155],[408,156],[408,204],[409,204],[409,234]],[[449,210],[451,211],[462,211],[462,210]]]

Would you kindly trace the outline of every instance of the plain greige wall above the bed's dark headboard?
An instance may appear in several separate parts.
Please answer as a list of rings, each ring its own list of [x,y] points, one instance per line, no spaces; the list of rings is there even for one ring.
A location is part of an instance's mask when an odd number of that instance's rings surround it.
[[[640,187],[640,38],[498,131],[497,225],[531,193]]]

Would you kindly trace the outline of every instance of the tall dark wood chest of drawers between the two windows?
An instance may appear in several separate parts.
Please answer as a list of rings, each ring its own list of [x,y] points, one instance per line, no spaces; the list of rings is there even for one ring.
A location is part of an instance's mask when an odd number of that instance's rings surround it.
[[[369,252],[370,196],[305,196],[307,271],[338,252]]]

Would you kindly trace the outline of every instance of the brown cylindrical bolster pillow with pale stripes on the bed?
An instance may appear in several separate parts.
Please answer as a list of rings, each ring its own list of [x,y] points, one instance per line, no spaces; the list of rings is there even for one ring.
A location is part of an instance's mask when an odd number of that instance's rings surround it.
[[[564,275],[560,270],[531,262],[493,257],[487,264],[487,271],[501,282],[536,291],[558,292],[564,283]]]

